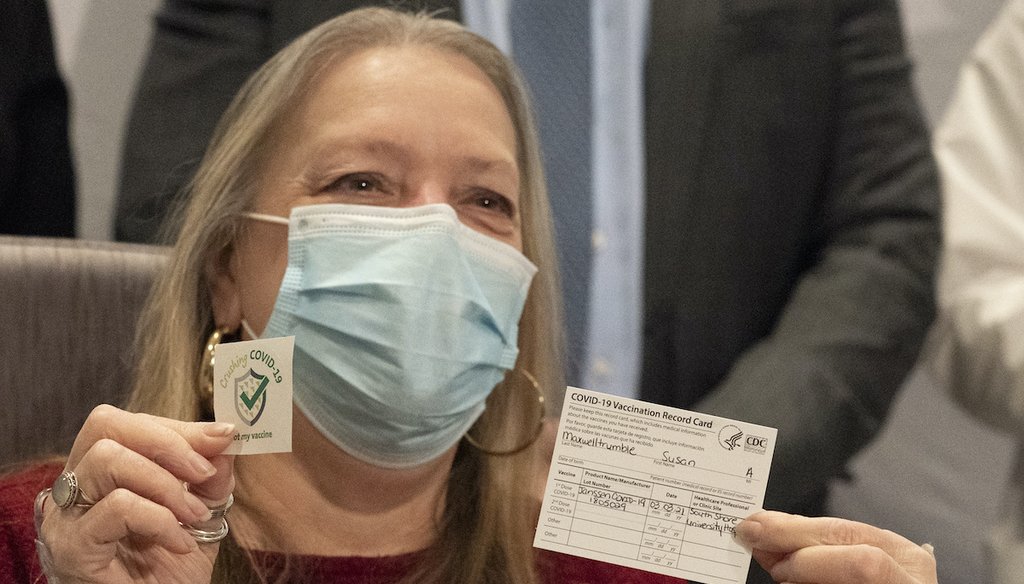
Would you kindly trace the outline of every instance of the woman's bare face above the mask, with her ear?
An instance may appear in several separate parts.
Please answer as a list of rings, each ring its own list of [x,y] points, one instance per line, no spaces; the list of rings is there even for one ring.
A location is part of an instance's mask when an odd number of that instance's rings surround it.
[[[281,125],[254,210],[446,203],[466,225],[522,249],[515,129],[489,79],[465,57],[370,49],[335,64]],[[247,221],[212,268],[214,317],[259,333],[288,260],[288,228]]]

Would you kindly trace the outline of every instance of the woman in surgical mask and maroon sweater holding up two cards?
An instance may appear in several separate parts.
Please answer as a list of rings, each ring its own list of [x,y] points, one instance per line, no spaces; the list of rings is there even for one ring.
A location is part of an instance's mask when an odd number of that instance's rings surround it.
[[[531,548],[557,287],[534,124],[492,45],[390,10],[324,24],[240,93],[184,213],[140,327],[146,414],[97,408],[55,482],[7,479],[54,485],[36,501],[51,581],[675,581]],[[178,421],[209,419],[203,346],[224,331],[295,335],[293,452],[224,456],[230,425]],[[820,522],[740,533],[799,577],[836,561],[822,547],[854,553],[818,545],[848,525]],[[880,565],[931,561],[849,526]]]

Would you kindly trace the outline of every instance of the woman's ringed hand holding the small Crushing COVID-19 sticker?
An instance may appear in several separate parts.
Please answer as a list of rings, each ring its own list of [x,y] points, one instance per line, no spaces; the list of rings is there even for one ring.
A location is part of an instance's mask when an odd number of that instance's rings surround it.
[[[208,506],[226,502],[233,457],[220,453],[232,432],[230,424],[93,410],[65,469],[95,504],[43,503],[39,539],[51,581],[209,582],[219,544],[198,544],[178,523],[202,523]]]

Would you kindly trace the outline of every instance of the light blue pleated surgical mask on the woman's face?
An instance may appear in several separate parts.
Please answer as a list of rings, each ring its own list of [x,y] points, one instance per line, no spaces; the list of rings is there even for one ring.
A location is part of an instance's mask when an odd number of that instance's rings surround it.
[[[449,205],[247,216],[289,225],[288,268],[263,335],[295,335],[299,410],[378,466],[420,465],[453,447],[515,365],[537,267]]]

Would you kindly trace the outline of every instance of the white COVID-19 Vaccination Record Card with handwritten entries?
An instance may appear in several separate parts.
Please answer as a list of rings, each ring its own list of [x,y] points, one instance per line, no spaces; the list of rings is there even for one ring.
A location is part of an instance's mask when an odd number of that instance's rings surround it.
[[[568,387],[536,547],[706,584],[746,581],[774,428]]]

